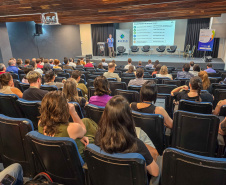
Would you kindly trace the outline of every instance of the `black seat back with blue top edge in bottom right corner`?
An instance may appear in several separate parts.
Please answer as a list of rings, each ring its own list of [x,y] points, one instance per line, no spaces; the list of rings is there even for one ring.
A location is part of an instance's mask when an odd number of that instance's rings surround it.
[[[163,154],[162,185],[225,184],[225,171],[226,159],[167,148]]]

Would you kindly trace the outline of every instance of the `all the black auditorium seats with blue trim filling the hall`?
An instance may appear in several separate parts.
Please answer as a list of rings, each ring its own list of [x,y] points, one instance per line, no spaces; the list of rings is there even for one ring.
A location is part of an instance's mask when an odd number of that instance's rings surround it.
[[[161,48],[159,48],[161,49]],[[165,48],[164,48],[165,50]],[[135,52],[135,51],[134,51]],[[161,52],[161,51],[158,51]],[[161,63],[161,62],[160,62]],[[95,95],[94,80],[103,76],[108,67],[78,67],[54,69],[55,82],[71,78],[72,72],[82,73],[79,83],[88,89],[88,101]],[[133,63],[134,64],[134,63]],[[134,64],[135,65],[135,64]],[[59,65],[62,69],[64,65]],[[141,86],[128,86],[135,74],[126,73],[124,65],[118,65],[114,73],[121,78],[108,78],[111,96],[122,95],[129,103],[140,102]],[[170,118],[173,128],[164,124],[160,114],[132,111],[136,127],[140,127],[151,139],[159,155],[163,156],[161,185],[210,185],[226,184],[226,137],[218,134],[219,124],[226,115],[226,105],[222,106],[219,116],[212,112],[220,100],[226,99],[226,85],[220,84],[226,76],[224,69],[215,69],[217,73],[208,74],[211,82],[211,102],[180,100],[175,110],[175,88],[188,85],[190,79],[177,78],[182,68],[167,66],[173,79],[152,75],[155,69],[143,67],[144,80],[153,81],[157,86],[156,106],[162,106]],[[204,70],[204,69],[202,69]],[[18,74],[10,72],[14,86],[24,92],[30,87],[22,83],[25,76],[23,67]],[[42,75],[40,89],[63,91],[57,86],[44,85]],[[202,91],[201,93],[205,93]],[[78,95],[85,97],[78,88]],[[79,103],[71,102],[79,117],[90,118],[99,123],[105,107],[87,104],[85,114]],[[48,173],[54,182],[73,185],[145,185],[147,176],[145,159],[136,153],[109,154],[94,144],[89,144],[82,159],[75,141],[65,137],[49,137],[38,132],[41,101],[28,101],[17,95],[0,93],[0,156],[4,167],[19,163],[24,177],[34,177],[40,172]],[[73,119],[70,117],[70,121]],[[171,130],[170,133],[167,130]]]

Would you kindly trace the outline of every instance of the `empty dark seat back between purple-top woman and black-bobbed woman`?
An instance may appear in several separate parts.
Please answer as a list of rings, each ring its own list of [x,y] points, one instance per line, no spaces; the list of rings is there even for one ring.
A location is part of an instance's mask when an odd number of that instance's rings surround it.
[[[140,95],[137,91],[116,89],[115,95],[124,96],[129,103],[140,101]]]

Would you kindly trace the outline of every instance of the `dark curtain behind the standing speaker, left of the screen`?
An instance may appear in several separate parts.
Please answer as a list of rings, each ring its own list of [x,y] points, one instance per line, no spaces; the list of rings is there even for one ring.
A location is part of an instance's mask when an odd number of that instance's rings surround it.
[[[112,34],[112,38],[114,38],[114,49],[115,48],[115,36],[116,36],[116,29],[119,28],[118,23],[110,23],[110,24],[92,24],[91,31],[92,31],[92,41],[93,41],[93,55],[97,56],[98,54],[98,42],[106,42],[105,44],[105,55],[108,56],[108,45],[107,45],[107,38],[109,34]]]

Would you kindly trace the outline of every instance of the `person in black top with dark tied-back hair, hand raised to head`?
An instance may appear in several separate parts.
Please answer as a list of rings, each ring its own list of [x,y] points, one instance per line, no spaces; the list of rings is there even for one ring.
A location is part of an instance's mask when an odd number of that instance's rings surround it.
[[[201,93],[202,80],[198,76],[192,77],[188,86],[180,86],[171,91],[171,95],[175,97],[176,101],[181,99],[197,101],[197,102],[211,102],[213,103],[213,96],[209,93]]]

